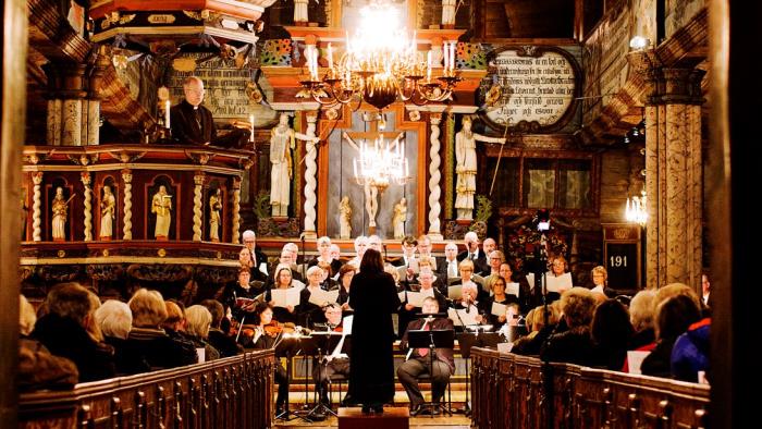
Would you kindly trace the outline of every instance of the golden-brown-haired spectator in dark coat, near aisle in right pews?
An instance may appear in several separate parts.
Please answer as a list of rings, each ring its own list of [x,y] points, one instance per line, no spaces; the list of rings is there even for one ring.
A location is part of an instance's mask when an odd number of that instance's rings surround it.
[[[550,361],[593,366],[593,343],[590,336],[595,299],[586,287],[572,287],[561,295],[561,311],[568,329],[552,334],[540,351],[540,357]]]

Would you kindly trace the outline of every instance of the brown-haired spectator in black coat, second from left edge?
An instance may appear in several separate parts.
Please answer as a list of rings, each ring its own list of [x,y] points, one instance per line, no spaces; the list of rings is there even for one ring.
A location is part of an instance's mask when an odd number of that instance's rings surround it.
[[[46,301],[48,314],[37,320],[32,336],[50,353],[74,361],[79,382],[113,377],[113,347],[94,340],[87,330],[95,324],[89,292],[78,283],[62,283]]]

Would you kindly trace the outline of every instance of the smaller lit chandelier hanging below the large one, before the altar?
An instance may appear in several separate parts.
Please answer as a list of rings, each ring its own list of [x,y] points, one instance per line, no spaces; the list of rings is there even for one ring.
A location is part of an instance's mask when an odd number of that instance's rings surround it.
[[[407,183],[408,166],[404,142],[397,140],[392,148],[383,136],[379,136],[372,145],[362,142],[359,152],[359,158],[354,160],[355,181],[358,185],[383,191],[392,183]]]

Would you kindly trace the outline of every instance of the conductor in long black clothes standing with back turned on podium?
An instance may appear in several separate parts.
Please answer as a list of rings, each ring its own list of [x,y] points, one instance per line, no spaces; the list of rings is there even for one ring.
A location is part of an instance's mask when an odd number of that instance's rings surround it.
[[[362,413],[383,413],[383,404],[394,399],[392,314],[401,303],[378,250],[368,249],[362,256],[360,272],[352,279],[349,302],[355,309],[349,394],[362,404]]]

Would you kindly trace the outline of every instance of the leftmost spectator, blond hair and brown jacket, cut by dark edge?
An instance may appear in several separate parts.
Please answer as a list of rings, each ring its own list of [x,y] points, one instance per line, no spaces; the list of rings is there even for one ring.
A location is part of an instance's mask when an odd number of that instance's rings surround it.
[[[36,321],[34,307],[24,295],[19,295],[19,391],[73,389],[79,378],[76,365],[51,355],[39,341],[28,336]]]

